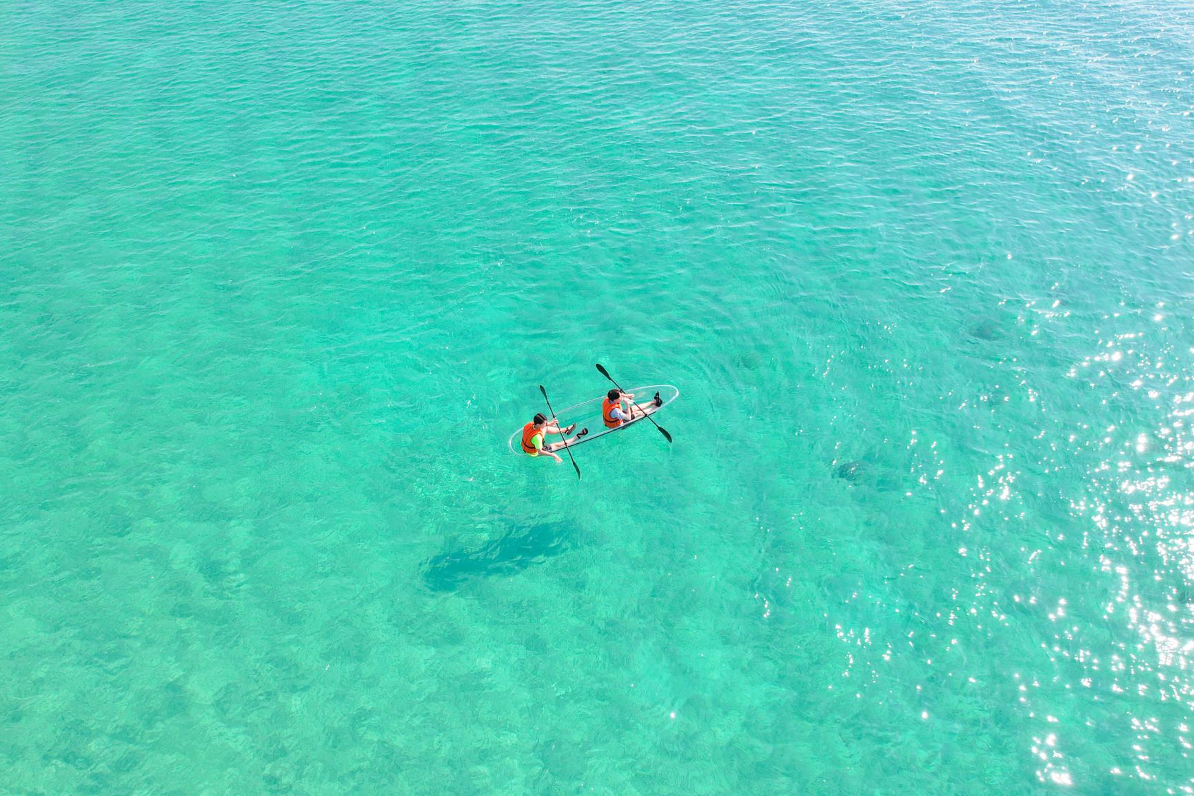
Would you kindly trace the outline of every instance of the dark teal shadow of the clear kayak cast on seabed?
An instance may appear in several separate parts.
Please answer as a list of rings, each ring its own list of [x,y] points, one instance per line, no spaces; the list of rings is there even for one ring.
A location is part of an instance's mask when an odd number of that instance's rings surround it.
[[[435,592],[450,592],[469,580],[515,575],[566,551],[571,544],[564,523],[511,525],[475,549],[441,553],[427,560],[423,580]]]

